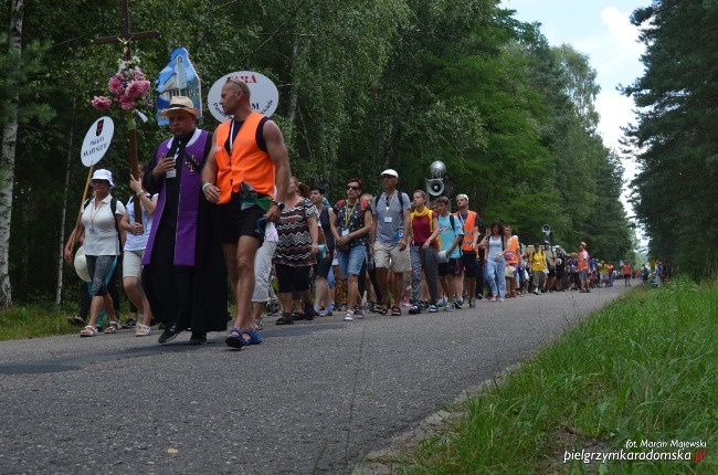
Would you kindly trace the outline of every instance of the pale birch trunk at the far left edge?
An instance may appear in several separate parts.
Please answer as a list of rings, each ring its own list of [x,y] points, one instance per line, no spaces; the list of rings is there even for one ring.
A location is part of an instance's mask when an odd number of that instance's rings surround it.
[[[23,0],[10,1],[10,24],[8,28],[9,57],[18,62],[22,56]],[[18,87],[8,91],[2,107],[8,112],[8,123],[2,130],[2,157],[0,162],[0,308],[12,306],[10,285],[10,223],[12,222],[12,190],[15,169],[15,144],[18,141]]]

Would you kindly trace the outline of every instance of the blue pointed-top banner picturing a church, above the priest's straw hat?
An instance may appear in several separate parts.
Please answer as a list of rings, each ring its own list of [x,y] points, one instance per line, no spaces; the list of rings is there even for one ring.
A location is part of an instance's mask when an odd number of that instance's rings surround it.
[[[159,112],[169,106],[172,97],[189,97],[202,117],[202,83],[190,62],[189,53],[183,48],[172,51],[167,66],[159,72],[157,78],[157,125],[167,125],[167,117]]]

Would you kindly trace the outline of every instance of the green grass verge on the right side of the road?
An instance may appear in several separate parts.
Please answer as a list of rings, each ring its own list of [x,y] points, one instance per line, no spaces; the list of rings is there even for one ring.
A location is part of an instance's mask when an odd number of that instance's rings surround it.
[[[718,473],[718,281],[638,288],[463,404],[392,473]],[[563,463],[564,451],[704,441],[706,460]],[[650,451],[632,448],[631,451]],[[663,448],[676,452],[677,448]],[[691,455],[695,450],[689,451]]]

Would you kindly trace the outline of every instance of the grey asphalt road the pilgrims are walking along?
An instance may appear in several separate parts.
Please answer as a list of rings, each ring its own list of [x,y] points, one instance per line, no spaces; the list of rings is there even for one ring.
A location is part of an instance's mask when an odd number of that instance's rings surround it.
[[[241,351],[154,330],[0,342],[1,474],[337,474],[623,293],[265,323]]]

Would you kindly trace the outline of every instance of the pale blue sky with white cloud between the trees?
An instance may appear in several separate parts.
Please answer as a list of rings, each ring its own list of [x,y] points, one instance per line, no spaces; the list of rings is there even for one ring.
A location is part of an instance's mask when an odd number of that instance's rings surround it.
[[[647,7],[651,0],[503,0],[501,7],[516,10],[515,18],[541,23],[541,33],[549,44],[568,43],[589,56],[596,71],[601,93],[595,107],[601,116],[599,133],[610,149],[620,149],[621,127],[635,124],[633,99],[616,91],[643,75],[641,55],[644,45],[637,42],[638,30],[631,24],[631,13]],[[635,175],[635,162],[623,160],[624,181]],[[625,187],[624,187],[625,194]],[[624,197],[626,212],[632,215]]]

